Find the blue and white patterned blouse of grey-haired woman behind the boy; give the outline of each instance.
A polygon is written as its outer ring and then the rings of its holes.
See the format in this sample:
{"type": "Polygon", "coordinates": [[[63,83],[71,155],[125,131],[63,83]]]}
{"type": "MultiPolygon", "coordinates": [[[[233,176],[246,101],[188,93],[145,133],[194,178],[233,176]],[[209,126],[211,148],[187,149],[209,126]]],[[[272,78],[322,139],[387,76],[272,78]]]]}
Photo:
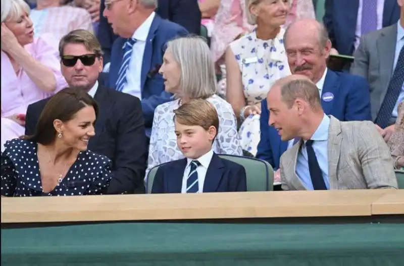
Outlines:
{"type": "MultiPolygon", "coordinates": [[[[213,143],[213,150],[218,154],[242,155],[240,140],[237,136],[236,117],[230,103],[218,95],[213,95],[207,100],[215,106],[219,116],[219,130],[213,143]]],[[[159,105],[155,110],[146,177],[151,168],[184,158],[177,147],[177,136],[174,132],[173,111],[178,107],[179,100],[174,100],[159,105]]]]}

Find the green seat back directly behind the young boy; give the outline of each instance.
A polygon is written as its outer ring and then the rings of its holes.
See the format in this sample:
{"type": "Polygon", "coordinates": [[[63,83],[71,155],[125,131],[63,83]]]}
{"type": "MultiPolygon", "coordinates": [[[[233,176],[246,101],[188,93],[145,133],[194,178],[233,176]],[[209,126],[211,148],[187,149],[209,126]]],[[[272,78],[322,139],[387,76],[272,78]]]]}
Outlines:
{"type": "MultiPolygon", "coordinates": [[[[227,159],[244,167],[247,178],[247,191],[273,190],[274,170],[268,162],[261,159],[219,154],[222,159],[227,159]]],[[[160,166],[155,166],[147,175],[146,191],[151,193],[155,175],[160,166]]]]}

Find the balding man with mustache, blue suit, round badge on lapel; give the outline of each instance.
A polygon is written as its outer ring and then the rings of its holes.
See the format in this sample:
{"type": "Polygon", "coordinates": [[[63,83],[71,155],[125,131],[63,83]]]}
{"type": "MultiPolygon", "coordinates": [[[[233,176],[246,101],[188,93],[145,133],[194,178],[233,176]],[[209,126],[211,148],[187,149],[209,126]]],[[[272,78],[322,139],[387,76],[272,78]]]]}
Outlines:
{"type": "MultiPolygon", "coordinates": [[[[368,82],[359,76],[327,69],[331,41],[322,24],[314,19],[294,22],[285,32],[284,44],[290,71],[305,75],[316,84],[326,115],[340,121],[372,120],[368,82]]],[[[268,125],[267,100],[261,104],[261,140],[256,157],[277,170],[282,153],[293,146],[294,140],[281,141],[277,130],[268,125]]],[[[276,171],[274,180],[279,179],[276,171]]]]}

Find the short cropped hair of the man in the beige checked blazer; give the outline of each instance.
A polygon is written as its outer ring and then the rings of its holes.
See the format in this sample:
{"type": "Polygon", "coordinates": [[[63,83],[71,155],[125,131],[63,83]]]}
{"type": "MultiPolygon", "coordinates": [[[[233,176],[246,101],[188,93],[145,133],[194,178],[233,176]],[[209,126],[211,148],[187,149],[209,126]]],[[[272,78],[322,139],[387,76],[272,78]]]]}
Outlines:
{"type": "Polygon", "coordinates": [[[313,110],[321,109],[320,93],[316,84],[308,79],[294,79],[281,84],[282,101],[292,108],[294,101],[299,98],[310,104],[313,110]]]}

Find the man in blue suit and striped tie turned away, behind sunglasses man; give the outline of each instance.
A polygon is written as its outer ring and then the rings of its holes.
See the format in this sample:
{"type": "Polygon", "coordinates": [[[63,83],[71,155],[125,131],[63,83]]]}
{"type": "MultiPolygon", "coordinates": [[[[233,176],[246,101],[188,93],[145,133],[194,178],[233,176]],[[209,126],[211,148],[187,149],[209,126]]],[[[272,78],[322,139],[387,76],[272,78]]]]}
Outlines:
{"type": "Polygon", "coordinates": [[[107,85],[138,97],[146,135],[151,131],[157,105],[171,99],[158,73],[167,41],[187,31],[155,13],[157,0],[111,0],[104,16],[117,38],[112,46],[107,85]]]}

